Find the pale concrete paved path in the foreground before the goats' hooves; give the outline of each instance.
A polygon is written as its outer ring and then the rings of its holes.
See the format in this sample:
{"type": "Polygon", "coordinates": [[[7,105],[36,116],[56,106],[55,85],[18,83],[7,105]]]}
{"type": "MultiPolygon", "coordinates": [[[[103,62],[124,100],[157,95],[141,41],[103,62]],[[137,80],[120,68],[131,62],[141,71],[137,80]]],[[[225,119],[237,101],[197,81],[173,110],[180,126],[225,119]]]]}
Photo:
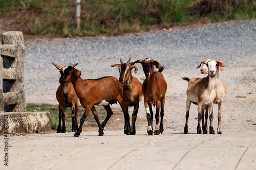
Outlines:
{"type": "MultiPolygon", "coordinates": [[[[8,169],[256,169],[256,133],[8,136],[8,169]]],[[[3,159],[4,136],[0,136],[3,159]]],[[[0,169],[7,169],[1,161],[0,169]],[[3,168],[4,167],[4,168],[3,168]]]]}

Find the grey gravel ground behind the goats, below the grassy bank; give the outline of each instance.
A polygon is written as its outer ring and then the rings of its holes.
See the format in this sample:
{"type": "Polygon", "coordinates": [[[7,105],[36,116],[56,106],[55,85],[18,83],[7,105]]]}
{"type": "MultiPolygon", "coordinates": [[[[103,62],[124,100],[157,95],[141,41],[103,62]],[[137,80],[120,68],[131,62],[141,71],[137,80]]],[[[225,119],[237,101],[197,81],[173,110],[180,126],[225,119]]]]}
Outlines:
{"type": "MultiPolygon", "coordinates": [[[[165,104],[165,128],[183,131],[187,82],[181,77],[204,77],[196,67],[207,59],[225,63],[220,78],[228,93],[223,106],[222,130],[256,131],[256,20],[224,22],[202,28],[173,29],[162,33],[140,33],[125,37],[99,39],[36,39],[26,40],[25,91],[27,103],[57,104],[55,92],[59,85],[60,66],[79,63],[83,79],[103,76],[119,77],[118,69],[110,65],[119,58],[132,61],[144,58],[157,60],[166,68],[163,75],[168,89],[165,104]],[[237,98],[237,95],[245,98],[237,98]],[[181,126],[182,125],[182,126],[181,126]],[[232,126],[233,125],[233,126],[232,126]]],[[[143,78],[140,64],[134,76],[143,78]]],[[[144,118],[143,103],[138,116],[144,118]]],[[[115,105],[115,107],[119,107],[115,105]]],[[[217,131],[217,110],[215,106],[217,131]]],[[[191,105],[189,131],[196,131],[197,107],[191,105]]]]}

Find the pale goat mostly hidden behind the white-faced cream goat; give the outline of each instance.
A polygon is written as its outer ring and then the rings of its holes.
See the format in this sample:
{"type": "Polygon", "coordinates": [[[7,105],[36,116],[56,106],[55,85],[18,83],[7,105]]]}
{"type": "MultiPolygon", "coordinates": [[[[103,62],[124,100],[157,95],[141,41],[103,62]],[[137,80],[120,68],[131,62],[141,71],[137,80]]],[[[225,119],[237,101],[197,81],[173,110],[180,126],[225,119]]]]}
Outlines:
{"type": "MultiPolygon", "coordinates": [[[[209,60],[207,60],[208,62],[209,60]]],[[[221,62],[221,61],[220,61],[221,62]]],[[[222,134],[221,130],[221,112],[222,112],[222,103],[227,94],[227,85],[219,78],[219,70],[223,71],[223,67],[217,67],[216,72],[216,98],[214,100],[214,104],[218,104],[218,134],[222,134]]],[[[208,69],[206,65],[201,67],[201,74],[208,74],[208,69]]],[[[203,115],[202,115],[203,118],[203,115]]],[[[207,133],[207,118],[208,118],[208,108],[205,107],[205,129],[207,133]]]]}

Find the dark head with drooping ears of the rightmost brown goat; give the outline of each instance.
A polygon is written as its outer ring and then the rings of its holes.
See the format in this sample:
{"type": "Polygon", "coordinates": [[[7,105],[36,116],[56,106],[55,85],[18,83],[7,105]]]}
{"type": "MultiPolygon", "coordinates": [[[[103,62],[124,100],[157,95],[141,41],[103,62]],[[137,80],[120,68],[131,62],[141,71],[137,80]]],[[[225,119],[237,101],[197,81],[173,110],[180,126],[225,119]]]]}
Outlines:
{"type": "Polygon", "coordinates": [[[150,77],[151,75],[153,75],[154,72],[154,65],[157,68],[161,68],[161,64],[158,63],[155,60],[152,60],[151,58],[145,58],[144,60],[137,60],[135,62],[131,62],[130,64],[135,64],[135,63],[141,63],[144,74],[146,77],[150,77]]]}

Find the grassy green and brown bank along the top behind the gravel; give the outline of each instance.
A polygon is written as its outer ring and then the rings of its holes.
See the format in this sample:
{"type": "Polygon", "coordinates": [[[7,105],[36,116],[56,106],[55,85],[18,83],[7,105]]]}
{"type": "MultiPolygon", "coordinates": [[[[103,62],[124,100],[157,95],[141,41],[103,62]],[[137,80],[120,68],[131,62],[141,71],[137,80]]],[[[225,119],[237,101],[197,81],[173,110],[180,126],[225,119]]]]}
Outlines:
{"type": "Polygon", "coordinates": [[[0,16],[13,19],[30,35],[94,36],[170,28],[193,21],[216,22],[256,17],[252,0],[81,0],[81,29],[74,21],[75,0],[0,0],[0,16]]]}

